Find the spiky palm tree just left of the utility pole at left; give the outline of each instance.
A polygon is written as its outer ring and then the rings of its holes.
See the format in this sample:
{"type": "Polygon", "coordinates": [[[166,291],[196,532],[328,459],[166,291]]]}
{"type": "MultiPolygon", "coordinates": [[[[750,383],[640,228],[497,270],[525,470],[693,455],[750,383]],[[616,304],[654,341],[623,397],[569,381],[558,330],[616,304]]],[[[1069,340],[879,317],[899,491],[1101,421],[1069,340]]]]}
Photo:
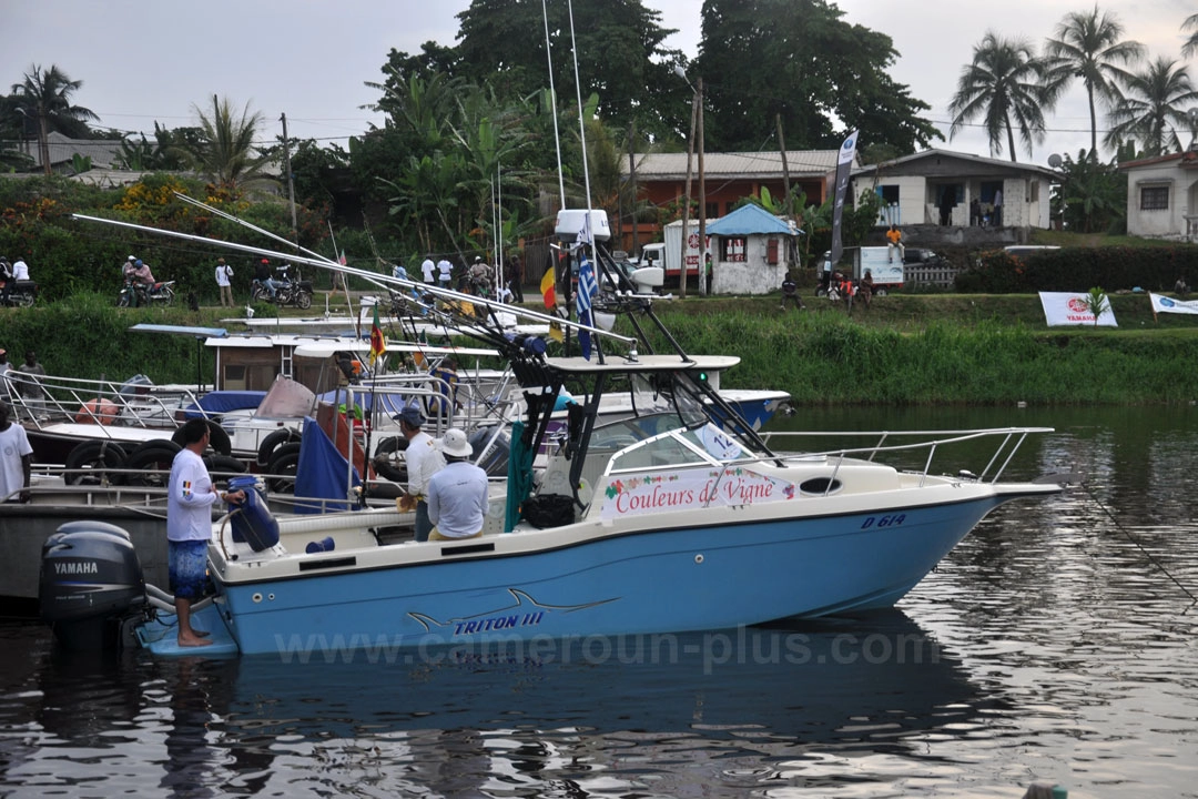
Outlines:
{"type": "Polygon", "coordinates": [[[249,103],[237,116],[229,98],[212,96],[212,109],[199,105],[192,110],[199,117],[199,140],[189,147],[192,161],[218,188],[236,196],[255,184],[273,183],[264,175],[268,157],[254,152],[254,137],[262,123],[261,111],[250,114],[249,103]]]}

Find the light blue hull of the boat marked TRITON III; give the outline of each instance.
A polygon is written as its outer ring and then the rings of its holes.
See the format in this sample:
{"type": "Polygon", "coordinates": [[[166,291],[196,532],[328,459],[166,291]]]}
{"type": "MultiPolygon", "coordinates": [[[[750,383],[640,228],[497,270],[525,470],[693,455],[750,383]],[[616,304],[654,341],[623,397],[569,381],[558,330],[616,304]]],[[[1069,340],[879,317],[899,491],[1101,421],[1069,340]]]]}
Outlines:
{"type": "Polygon", "coordinates": [[[534,553],[218,585],[217,606],[242,653],[289,660],[710,630],[885,607],[1010,498],[646,531],[534,553]],[[878,526],[870,520],[879,513],[902,521],[878,526]]]}

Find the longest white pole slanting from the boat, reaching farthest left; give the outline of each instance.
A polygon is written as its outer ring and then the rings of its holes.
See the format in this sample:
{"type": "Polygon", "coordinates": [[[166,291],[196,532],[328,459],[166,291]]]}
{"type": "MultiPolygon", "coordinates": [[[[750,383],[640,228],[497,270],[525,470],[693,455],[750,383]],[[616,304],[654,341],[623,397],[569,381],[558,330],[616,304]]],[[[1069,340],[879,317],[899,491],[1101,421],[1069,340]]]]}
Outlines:
{"type": "MultiPolygon", "coordinates": [[[[486,299],[486,298],[483,298],[483,297],[476,297],[474,295],[468,295],[468,293],[462,293],[462,292],[459,292],[459,291],[453,291],[452,289],[442,289],[440,286],[432,286],[432,285],[428,285],[428,284],[424,284],[424,283],[417,283],[415,280],[404,280],[403,278],[397,278],[397,277],[391,277],[391,276],[380,276],[377,272],[367,272],[365,270],[358,270],[358,268],[351,267],[351,266],[343,266],[340,264],[329,261],[328,259],[326,259],[323,256],[319,256],[319,258],[296,256],[296,255],[294,255],[291,253],[284,253],[284,252],[279,252],[279,250],[267,249],[265,247],[255,247],[253,244],[238,244],[237,242],[220,241],[220,240],[217,240],[217,238],[208,238],[207,236],[196,236],[194,234],[184,234],[184,232],[176,231],[176,230],[162,230],[159,228],[150,228],[147,225],[139,225],[139,224],[135,224],[135,223],[132,223],[132,222],[120,222],[117,219],[105,219],[103,217],[91,217],[91,216],[86,216],[86,214],[81,214],[81,213],[72,214],[72,218],[73,219],[79,219],[80,222],[96,222],[96,223],[99,223],[99,224],[115,225],[117,228],[128,228],[131,230],[138,230],[138,231],[141,231],[141,232],[156,234],[156,235],[159,235],[159,236],[170,236],[170,237],[174,237],[174,238],[182,238],[184,241],[200,242],[200,243],[210,244],[210,246],[213,246],[213,247],[224,247],[224,248],[234,249],[234,250],[237,250],[237,252],[241,252],[241,253],[248,253],[250,255],[260,255],[260,256],[266,256],[266,258],[277,258],[277,259],[280,259],[280,260],[289,260],[290,259],[291,261],[295,261],[296,264],[303,264],[305,266],[313,266],[313,267],[321,268],[321,270],[331,270],[331,271],[334,271],[334,272],[340,272],[340,273],[344,273],[344,274],[350,274],[350,276],[353,276],[353,277],[359,277],[359,278],[362,278],[364,280],[368,280],[368,282],[380,282],[380,283],[386,284],[387,286],[399,286],[400,289],[405,289],[405,290],[413,290],[415,289],[416,291],[423,292],[425,295],[432,295],[434,297],[437,297],[437,298],[444,299],[444,301],[453,301],[453,302],[458,302],[458,303],[467,303],[470,305],[480,305],[483,308],[486,308],[492,314],[507,313],[507,314],[512,314],[514,316],[520,316],[520,317],[524,317],[524,319],[528,319],[528,320],[532,320],[534,322],[543,323],[543,325],[544,323],[553,323],[553,325],[561,325],[563,327],[567,327],[567,328],[570,328],[570,329],[575,329],[575,331],[586,331],[586,332],[592,333],[592,334],[606,337],[606,338],[612,339],[615,341],[621,341],[621,343],[630,345],[633,347],[635,347],[637,345],[637,340],[635,338],[633,338],[633,337],[622,335],[619,333],[613,333],[611,331],[605,331],[605,329],[603,329],[600,327],[593,327],[593,326],[589,326],[589,325],[582,325],[580,322],[574,322],[574,321],[570,321],[568,319],[562,319],[561,316],[556,316],[556,315],[551,315],[551,314],[543,314],[543,313],[537,311],[537,310],[530,310],[527,308],[520,308],[520,307],[516,307],[516,305],[508,305],[508,304],[495,302],[495,301],[486,299]]],[[[292,242],[290,242],[290,241],[286,242],[286,244],[289,247],[295,247],[295,244],[292,242]]],[[[507,340],[506,337],[504,337],[504,340],[507,340]]]]}

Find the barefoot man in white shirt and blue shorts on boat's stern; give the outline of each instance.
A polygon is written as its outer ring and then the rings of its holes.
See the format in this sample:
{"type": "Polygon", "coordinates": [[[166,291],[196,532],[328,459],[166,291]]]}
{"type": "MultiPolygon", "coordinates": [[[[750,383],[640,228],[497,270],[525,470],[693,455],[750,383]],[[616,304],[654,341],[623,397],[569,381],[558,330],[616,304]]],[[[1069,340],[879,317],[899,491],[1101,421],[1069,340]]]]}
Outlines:
{"type": "Polygon", "coordinates": [[[206,631],[192,629],[192,603],[204,597],[212,538],[212,506],[223,500],[242,502],[244,491],[218,491],[204,465],[208,447],[208,423],[190,419],[182,426],[183,448],[170,465],[167,489],[167,543],[170,559],[170,589],[179,615],[179,646],[206,647],[206,631]]]}

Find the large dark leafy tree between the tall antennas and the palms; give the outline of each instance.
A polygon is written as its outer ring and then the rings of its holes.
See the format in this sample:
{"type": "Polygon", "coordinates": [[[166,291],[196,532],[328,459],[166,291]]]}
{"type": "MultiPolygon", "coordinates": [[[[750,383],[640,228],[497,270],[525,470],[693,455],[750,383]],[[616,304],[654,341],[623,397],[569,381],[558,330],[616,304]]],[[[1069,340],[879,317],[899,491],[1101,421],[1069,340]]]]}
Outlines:
{"type": "MultiPolygon", "coordinates": [[[[703,77],[708,149],[760,150],[779,117],[792,149],[837,147],[846,128],[903,153],[943,139],[924,119],[930,107],[890,79],[890,37],[849,25],[835,5],[704,0],[702,17],[690,72],[703,77]]],[[[673,102],[685,110],[682,97],[673,102]]]]}

